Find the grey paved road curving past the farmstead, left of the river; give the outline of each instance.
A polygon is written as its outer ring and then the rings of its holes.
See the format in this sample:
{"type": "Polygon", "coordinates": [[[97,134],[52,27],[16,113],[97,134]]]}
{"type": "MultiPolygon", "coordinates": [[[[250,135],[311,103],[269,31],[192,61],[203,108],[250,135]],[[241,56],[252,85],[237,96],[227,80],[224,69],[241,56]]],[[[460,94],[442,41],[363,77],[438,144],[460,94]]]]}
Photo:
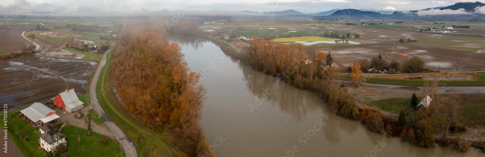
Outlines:
{"type": "Polygon", "coordinates": [[[93,105],[93,109],[96,110],[97,114],[100,116],[101,120],[103,120],[104,124],[108,126],[108,128],[113,132],[114,136],[118,141],[121,143],[121,146],[123,147],[123,150],[125,150],[125,154],[127,157],[138,157],[138,151],[136,151],[135,144],[129,137],[121,130],[116,124],[113,123],[113,120],[106,115],[104,110],[99,106],[99,102],[97,101],[97,96],[96,96],[96,85],[97,85],[97,79],[99,78],[99,74],[101,73],[101,69],[103,68],[104,64],[106,63],[106,54],[111,50],[108,49],[104,53],[101,61],[99,62],[99,65],[97,66],[97,69],[93,75],[93,79],[91,80],[91,84],[89,85],[89,96],[91,97],[91,105],[93,105]],[[121,139],[121,140],[120,140],[121,139]]]}

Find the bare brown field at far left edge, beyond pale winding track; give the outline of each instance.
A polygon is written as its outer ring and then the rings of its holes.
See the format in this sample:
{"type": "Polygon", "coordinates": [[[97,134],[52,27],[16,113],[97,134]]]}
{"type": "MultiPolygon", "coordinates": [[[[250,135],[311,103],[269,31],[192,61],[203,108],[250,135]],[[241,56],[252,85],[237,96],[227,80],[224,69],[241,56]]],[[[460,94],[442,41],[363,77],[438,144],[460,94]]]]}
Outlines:
{"type": "Polygon", "coordinates": [[[0,22],[0,55],[20,51],[28,41],[21,37],[23,31],[35,30],[38,23],[9,23],[0,22]]]}

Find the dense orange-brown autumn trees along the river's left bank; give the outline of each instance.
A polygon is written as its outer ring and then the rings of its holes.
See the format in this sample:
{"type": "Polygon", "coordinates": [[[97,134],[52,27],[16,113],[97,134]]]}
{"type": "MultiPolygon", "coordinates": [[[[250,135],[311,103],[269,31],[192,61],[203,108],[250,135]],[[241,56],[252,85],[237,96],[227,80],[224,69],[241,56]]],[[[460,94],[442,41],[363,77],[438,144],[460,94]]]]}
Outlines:
{"type": "Polygon", "coordinates": [[[187,67],[178,44],[169,44],[166,29],[156,25],[120,34],[111,76],[125,109],[156,130],[179,130],[186,141],[200,145],[192,153],[213,156],[197,125],[207,91],[199,84],[200,75],[187,67]]]}

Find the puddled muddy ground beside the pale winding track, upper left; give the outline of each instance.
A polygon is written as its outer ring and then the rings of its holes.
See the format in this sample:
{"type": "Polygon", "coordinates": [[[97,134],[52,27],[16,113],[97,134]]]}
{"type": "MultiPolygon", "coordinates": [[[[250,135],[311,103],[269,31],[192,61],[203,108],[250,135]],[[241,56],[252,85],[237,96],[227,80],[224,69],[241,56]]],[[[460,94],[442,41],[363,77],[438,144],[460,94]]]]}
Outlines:
{"type": "Polygon", "coordinates": [[[70,59],[81,59],[84,57],[81,53],[61,49],[61,47],[64,47],[63,43],[38,38],[34,38],[33,40],[42,45],[42,48],[37,52],[38,55],[70,59]]]}

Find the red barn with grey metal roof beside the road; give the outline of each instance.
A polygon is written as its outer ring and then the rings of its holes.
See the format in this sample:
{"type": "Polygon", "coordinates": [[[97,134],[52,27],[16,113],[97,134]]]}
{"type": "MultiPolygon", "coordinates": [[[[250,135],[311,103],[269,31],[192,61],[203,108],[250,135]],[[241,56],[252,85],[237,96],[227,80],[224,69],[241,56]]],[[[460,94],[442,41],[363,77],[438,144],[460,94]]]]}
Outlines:
{"type": "Polygon", "coordinates": [[[84,107],[84,103],[79,100],[74,89],[57,94],[54,98],[54,105],[71,113],[84,107]]]}

